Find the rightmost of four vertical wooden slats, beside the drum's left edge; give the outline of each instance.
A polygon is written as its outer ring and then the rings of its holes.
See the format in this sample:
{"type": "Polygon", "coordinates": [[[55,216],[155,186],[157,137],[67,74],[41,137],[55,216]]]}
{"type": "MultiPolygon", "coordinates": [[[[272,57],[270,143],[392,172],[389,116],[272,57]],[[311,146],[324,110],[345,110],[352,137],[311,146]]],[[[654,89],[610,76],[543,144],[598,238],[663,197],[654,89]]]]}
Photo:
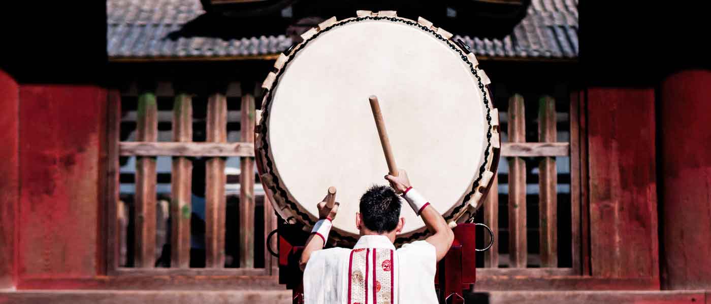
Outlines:
{"type": "MultiPolygon", "coordinates": [[[[242,96],[241,142],[255,141],[255,98],[242,96]]],[[[240,158],[240,267],[254,267],[255,169],[253,157],[240,158]]],[[[267,232],[269,233],[269,232],[267,232]]]]}

